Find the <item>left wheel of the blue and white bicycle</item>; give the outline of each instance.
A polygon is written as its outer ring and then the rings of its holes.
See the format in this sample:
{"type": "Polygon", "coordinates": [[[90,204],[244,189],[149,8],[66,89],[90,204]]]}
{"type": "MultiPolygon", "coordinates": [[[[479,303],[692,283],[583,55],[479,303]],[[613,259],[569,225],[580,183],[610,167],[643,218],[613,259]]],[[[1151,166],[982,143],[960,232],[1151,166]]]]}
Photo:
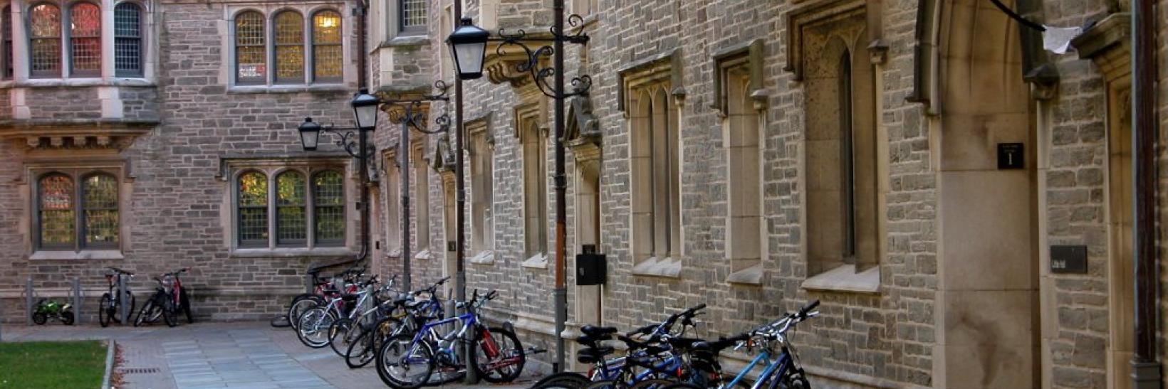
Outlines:
{"type": "Polygon", "coordinates": [[[390,338],[377,351],[377,376],[396,389],[417,389],[426,384],[434,370],[430,344],[415,344],[411,335],[390,338]]]}

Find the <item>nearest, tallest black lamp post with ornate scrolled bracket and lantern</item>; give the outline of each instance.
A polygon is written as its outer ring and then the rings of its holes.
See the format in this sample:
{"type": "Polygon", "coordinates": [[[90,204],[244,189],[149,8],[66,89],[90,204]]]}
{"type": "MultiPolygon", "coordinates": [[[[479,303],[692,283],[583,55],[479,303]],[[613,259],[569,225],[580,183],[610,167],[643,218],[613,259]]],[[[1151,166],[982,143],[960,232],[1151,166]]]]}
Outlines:
{"type": "MultiPolygon", "coordinates": [[[[459,79],[475,79],[482,77],[482,63],[485,61],[487,42],[499,42],[495,52],[500,56],[507,47],[517,47],[527,54],[527,62],[516,65],[520,72],[528,72],[533,82],[544,96],[555,100],[555,126],[556,126],[556,287],[555,311],[556,311],[556,362],[554,369],[559,372],[564,366],[564,321],[568,320],[568,288],[565,283],[566,262],[564,253],[566,248],[566,177],[564,175],[564,100],[575,96],[588,94],[592,86],[591,77],[586,75],[577,76],[572,79],[572,91],[564,89],[564,42],[576,44],[588,44],[589,36],[580,28],[573,34],[564,33],[564,0],[552,1],[552,13],[555,14],[550,36],[536,37],[527,36],[527,33],[519,30],[514,34],[499,30],[498,36],[491,36],[482,28],[474,26],[471,19],[461,19],[459,27],[446,38],[458,66],[459,79]],[[534,50],[528,44],[535,44],[534,50]],[[550,68],[541,66],[542,58],[551,57],[550,68]],[[551,78],[551,83],[548,83],[551,78]]],[[[583,24],[579,15],[568,16],[572,27],[583,24]]],[[[461,119],[459,119],[461,120],[461,119]]]]}

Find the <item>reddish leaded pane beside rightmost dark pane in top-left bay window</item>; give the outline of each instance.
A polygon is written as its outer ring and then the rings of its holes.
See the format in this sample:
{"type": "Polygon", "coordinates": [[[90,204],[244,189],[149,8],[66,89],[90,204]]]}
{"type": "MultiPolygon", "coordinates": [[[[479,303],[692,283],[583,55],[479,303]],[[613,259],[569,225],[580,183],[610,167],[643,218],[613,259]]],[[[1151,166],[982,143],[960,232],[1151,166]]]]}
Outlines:
{"type": "Polygon", "coordinates": [[[72,73],[102,73],[102,8],[92,2],[69,7],[69,59],[72,73]]]}

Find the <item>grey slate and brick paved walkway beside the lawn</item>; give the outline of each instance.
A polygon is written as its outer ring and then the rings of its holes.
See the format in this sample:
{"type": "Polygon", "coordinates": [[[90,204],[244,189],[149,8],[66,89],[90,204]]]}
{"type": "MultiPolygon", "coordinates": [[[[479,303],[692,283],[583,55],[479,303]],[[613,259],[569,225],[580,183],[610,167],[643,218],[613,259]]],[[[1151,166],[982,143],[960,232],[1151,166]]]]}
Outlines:
{"type": "MultiPolygon", "coordinates": [[[[119,369],[155,369],[123,375],[123,388],[385,388],[374,368],[350,369],[329,348],[310,348],[288,328],[267,323],[196,323],[166,326],[6,325],[4,341],[114,339],[119,369]]],[[[449,388],[526,388],[529,374],[512,386],[447,384],[449,388]]]]}

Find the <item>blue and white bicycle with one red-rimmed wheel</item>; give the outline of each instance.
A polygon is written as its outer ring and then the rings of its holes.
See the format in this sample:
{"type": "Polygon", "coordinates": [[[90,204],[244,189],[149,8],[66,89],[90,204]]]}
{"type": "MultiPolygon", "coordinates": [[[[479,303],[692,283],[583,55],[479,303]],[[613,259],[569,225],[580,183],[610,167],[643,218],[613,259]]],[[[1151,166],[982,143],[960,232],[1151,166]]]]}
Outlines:
{"type": "Polygon", "coordinates": [[[424,384],[445,383],[465,372],[460,365],[461,346],[471,341],[470,355],[464,361],[473,361],[471,368],[484,381],[491,383],[514,381],[523,370],[526,355],[515,333],[501,327],[481,324],[478,309],[499,293],[491,291],[458,304],[466,313],[454,318],[424,324],[415,334],[398,334],[384,342],[377,352],[377,376],[396,389],[416,389],[424,384]],[[456,325],[457,328],[439,333],[438,327],[456,325]],[[473,335],[473,339],[467,339],[473,335]],[[510,345],[507,345],[507,344],[510,345]],[[439,368],[438,380],[431,380],[439,368]]]}

